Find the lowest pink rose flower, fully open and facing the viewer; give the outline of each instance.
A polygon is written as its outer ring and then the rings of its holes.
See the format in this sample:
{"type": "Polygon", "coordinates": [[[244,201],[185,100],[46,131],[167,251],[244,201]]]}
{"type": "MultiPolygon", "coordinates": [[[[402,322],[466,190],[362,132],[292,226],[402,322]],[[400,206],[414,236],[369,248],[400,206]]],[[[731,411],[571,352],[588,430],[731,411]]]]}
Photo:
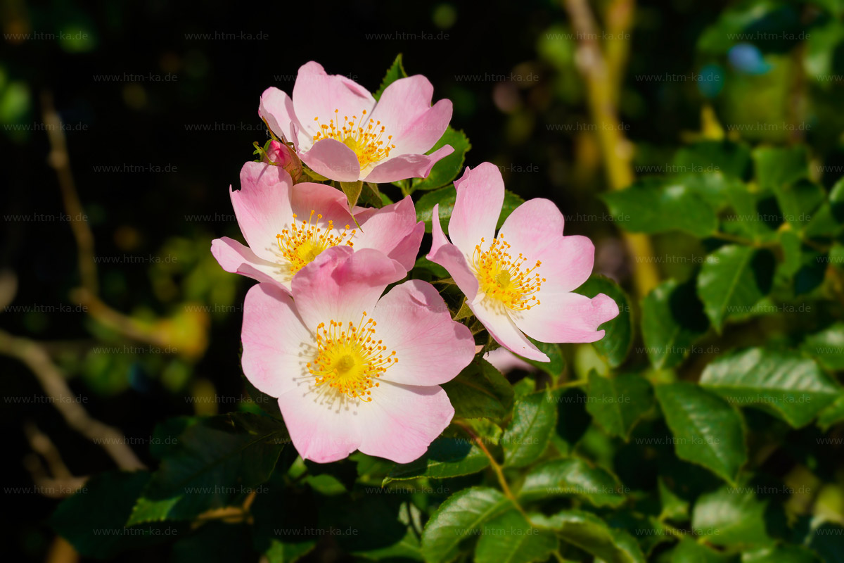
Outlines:
{"type": "Polygon", "coordinates": [[[300,456],[318,463],[360,450],[408,463],[454,409],[440,387],[472,361],[469,329],[420,280],[397,278],[381,252],[335,246],[293,279],[246,295],[243,372],[279,408],[300,456]]]}

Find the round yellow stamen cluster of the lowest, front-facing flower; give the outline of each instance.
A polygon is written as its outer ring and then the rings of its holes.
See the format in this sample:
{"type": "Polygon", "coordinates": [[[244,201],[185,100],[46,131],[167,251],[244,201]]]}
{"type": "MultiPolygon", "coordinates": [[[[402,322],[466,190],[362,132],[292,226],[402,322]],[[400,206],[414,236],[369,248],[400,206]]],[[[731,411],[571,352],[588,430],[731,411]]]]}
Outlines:
{"type": "Polygon", "coordinates": [[[358,326],[354,322],[342,324],[320,322],[317,327],[317,358],[307,365],[317,377],[317,387],[327,386],[349,398],[372,400],[370,391],[378,387],[376,380],[391,365],[398,362],[396,352],[387,354],[387,346],[376,340],[376,322],[366,318],[366,311],[358,326]]]}

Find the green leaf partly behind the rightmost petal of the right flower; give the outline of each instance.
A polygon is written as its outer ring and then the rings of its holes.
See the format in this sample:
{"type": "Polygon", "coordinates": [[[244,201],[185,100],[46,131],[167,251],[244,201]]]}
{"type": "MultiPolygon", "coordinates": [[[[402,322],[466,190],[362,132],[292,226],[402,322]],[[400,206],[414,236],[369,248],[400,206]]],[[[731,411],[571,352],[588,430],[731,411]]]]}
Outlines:
{"type": "Polygon", "coordinates": [[[601,275],[593,275],[587,279],[585,284],[576,290],[576,293],[586,295],[589,298],[603,293],[609,295],[619,306],[619,315],[614,319],[604,322],[598,329],[605,332],[603,338],[593,342],[592,346],[598,350],[611,367],[618,367],[623,364],[630,346],[633,344],[633,315],[630,311],[630,297],[612,279],[601,275]]]}

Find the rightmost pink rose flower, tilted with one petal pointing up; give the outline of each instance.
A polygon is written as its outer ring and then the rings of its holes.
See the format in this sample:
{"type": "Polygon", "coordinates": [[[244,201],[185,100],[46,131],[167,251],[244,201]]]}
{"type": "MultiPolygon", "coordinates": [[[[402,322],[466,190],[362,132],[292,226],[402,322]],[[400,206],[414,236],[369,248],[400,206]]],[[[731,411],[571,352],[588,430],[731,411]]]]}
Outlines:
{"type": "Polygon", "coordinates": [[[563,215],[554,203],[522,203],[495,225],[504,203],[504,181],[488,162],[466,169],[454,182],[457,200],[442,231],[434,207],[434,240],[428,259],[452,274],[474,316],[499,344],[529,360],[549,361],[525,337],[540,342],[595,342],[597,330],[616,317],[609,296],[571,293],[592,273],[595,248],[585,236],[563,236],[563,215]]]}

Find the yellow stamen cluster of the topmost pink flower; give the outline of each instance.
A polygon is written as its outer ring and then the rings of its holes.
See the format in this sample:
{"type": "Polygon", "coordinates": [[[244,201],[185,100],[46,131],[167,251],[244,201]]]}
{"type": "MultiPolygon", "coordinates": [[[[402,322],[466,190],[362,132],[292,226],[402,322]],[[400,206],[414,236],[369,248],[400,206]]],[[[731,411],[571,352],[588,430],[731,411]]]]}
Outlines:
{"type": "Polygon", "coordinates": [[[361,170],[386,159],[390,151],[396,148],[396,145],[390,143],[392,135],[387,135],[386,140],[383,139],[386,127],[381,125],[381,122],[372,122],[366,116],[366,110],[361,111],[360,121],[358,116],[352,116],[351,120],[349,116],[343,116],[342,123],[339,112],[339,110],[334,110],[335,117],[329,120],[327,125],[320,123],[319,117],[314,117],[319,127],[317,134],[314,135],[314,143],[324,138],[333,138],[344,143],[357,155],[361,170]]]}

